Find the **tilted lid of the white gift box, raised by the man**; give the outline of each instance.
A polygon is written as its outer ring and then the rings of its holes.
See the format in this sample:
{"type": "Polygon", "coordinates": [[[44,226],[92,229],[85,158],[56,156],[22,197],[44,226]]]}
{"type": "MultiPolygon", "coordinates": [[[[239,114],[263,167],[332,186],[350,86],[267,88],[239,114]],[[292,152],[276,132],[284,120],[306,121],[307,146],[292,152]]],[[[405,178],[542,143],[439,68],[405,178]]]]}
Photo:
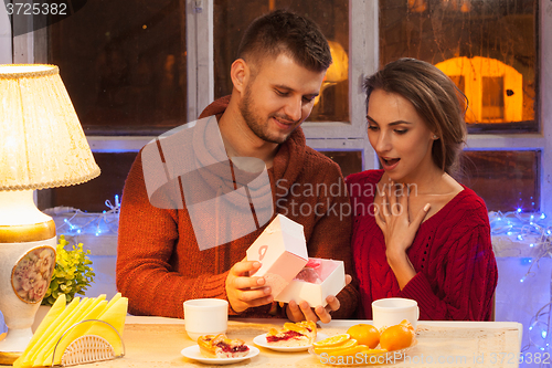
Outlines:
{"type": "Polygon", "coordinates": [[[283,214],[247,249],[247,261],[259,261],[255,276],[264,277],[272,295],[278,295],[308,262],[302,225],[283,214]]]}

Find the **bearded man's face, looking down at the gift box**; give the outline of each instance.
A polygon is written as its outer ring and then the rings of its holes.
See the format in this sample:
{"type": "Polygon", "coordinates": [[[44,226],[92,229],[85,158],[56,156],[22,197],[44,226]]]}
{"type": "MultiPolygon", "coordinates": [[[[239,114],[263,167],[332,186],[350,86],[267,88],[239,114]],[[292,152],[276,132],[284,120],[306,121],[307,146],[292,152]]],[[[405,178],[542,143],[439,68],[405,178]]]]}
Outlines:
{"type": "Polygon", "coordinates": [[[285,54],[258,63],[238,104],[250,129],[265,141],[284,143],[310,115],[325,74],[285,54]]]}

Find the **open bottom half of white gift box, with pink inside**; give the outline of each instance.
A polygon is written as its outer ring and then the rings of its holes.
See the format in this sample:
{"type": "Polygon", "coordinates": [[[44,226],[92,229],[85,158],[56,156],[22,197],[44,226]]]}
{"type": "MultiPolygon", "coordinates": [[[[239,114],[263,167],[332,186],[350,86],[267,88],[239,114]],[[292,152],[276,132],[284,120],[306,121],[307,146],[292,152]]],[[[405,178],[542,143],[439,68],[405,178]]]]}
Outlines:
{"type": "Polygon", "coordinates": [[[279,293],[275,301],[289,303],[290,301],[306,301],[311,307],[328,304],[328,295],[338,295],[346,286],[343,261],[310,259],[320,261],[320,267],[316,269],[320,283],[291,280],[291,282],[279,293]]]}

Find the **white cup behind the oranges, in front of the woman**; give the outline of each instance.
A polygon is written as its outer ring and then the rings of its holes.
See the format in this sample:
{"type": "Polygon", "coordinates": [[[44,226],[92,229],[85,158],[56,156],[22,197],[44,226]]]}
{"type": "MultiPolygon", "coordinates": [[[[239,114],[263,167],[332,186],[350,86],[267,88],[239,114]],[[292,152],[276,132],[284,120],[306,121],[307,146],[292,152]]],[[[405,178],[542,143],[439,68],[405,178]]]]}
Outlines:
{"type": "Polygon", "coordinates": [[[372,318],[375,328],[399,325],[403,319],[416,328],[420,318],[417,302],[403,297],[388,297],[372,302],[372,318]]]}

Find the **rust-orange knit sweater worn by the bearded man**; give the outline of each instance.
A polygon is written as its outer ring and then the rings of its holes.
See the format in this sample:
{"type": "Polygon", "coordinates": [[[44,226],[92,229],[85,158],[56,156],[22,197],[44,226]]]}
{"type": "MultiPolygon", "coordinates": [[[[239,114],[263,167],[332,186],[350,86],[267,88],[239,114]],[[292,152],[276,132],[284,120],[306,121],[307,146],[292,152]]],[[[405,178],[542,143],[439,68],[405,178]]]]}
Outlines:
{"type": "MultiPolygon", "coordinates": [[[[229,98],[214,102],[202,117],[222,114],[227,102],[229,98]]],[[[277,213],[304,225],[309,256],[342,260],[346,272],[352,274],[351,217],[339,211],[340,207],[349,206],[349,198],[339,167],[307,147],[302,130],[297,128],[280,145],[268,175],[274,208],[277,213]],[[308,191],[317,183],[327,187],[335,183],[339,190],[333,190],[336,196],[308,191]],[[302,207],[302,214],[297,203],[307,203],[302,207]],[[317,204],[317,211],[308,211],[317,204]],[[337,211],[331,211],[331,208],[337,208],[337,211]]],[[[231,218],[226,220],[232,221],[231,218]]],[[[240,223],[234,225],[240,227],[240,223]]],[[[229,270],[245,257],[245,251],[264,228],[230,243],[200,251],[185,208],[163,210],[150,204],[141,154],[138,155],[123,191],[117,256],[117,287],[128,297],[129,312],[183,317],[182,303],[187,299],[227,299],[225,280],[229,270]]],[[[348,285],[338,298],[341,308],[332,314],[333,317],[350,317],[357,306],[357,290],[348,285]]],[[[238,315],[269,317],[269,309],[270,305],[266,305],[238,315]]],[[[236,315],[233,311],[230,314],[236,315]]]]}

